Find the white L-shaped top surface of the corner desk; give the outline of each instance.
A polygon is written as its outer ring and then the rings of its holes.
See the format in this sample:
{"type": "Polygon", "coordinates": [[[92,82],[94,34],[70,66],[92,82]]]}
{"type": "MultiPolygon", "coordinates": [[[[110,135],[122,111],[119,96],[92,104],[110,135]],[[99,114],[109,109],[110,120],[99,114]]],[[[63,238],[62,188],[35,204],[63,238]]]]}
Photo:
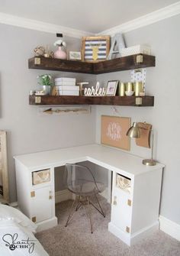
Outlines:
{"type": "Polygon", "coordinates": [[[14,159],[27,167],[28,170],[59,167],[66,163],[71,164],[84,160],[89,160],[108,170],[117,172],[121,170],[124,172],[124,175],[127,173],[130,175],[138,175],[151,170],[159,170],[164,167],[163,164],[156,164],[156,166],[153,167],[144,166],[142,164],[143,158],[100,144],[87,144],[52,151],[22,154],[15,156],[14,159]]]}

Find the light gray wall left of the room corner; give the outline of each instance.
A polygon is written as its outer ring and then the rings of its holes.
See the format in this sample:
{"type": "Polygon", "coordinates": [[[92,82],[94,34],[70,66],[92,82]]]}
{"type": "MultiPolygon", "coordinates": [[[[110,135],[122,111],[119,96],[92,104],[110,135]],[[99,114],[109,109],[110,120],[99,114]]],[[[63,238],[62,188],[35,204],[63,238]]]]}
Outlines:
{"type": "MultiPolygon", "coordinates": [[[[13,156],[95,142],[95,108],[90,115],[40,116],[38,107],[28,104],[31,89],[37,89],[37,76],[95,76],[76,73],[28,70],[27,60],[37,45],[53,45],[56,35],[0,24],[0,129],[8,131],[8,171],[11,202],[16,201],[13,156]]],[[[79,40],[65,38],[68,48],[79,50],[79,40]]]]}

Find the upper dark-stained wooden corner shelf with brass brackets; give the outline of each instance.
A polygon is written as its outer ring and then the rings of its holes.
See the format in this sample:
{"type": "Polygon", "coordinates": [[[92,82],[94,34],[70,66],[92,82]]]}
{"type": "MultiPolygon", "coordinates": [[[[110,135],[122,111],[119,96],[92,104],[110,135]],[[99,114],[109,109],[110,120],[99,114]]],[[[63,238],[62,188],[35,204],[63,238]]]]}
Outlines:
{"type": "Polygon", "coordinates": [[[155,66],[155,62],[154,56],[145,54],[135,54],[113,60],[104,60],[97,63],[88,63],[79,60],[59,60],[55,58],[33,57],[28,60],[28,66],[29,69],[37,70],[101,74],[155,66]]]}

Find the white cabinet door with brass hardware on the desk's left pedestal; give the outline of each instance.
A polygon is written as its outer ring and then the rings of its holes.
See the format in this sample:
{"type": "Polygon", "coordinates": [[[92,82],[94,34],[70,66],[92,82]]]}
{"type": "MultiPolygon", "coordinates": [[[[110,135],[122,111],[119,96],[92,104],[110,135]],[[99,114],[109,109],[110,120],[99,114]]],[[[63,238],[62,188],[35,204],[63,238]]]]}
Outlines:
{"type": "Polygon", "coordinates": [[[51,186],[44,186],[34,190],[34,196],[31,197],[31,219],[34,222],[53,217],[53,200],[51,186]]]}

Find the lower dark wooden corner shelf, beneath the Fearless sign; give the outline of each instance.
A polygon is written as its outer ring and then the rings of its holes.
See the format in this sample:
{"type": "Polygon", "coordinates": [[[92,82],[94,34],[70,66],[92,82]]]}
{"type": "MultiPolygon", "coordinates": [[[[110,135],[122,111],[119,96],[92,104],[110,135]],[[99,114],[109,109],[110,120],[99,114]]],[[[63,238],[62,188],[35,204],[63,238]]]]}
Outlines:
{"type": "Polygon", "coordinates": [[[154,96],[29,96],[30,105],[153,106],[154,96]]]}

